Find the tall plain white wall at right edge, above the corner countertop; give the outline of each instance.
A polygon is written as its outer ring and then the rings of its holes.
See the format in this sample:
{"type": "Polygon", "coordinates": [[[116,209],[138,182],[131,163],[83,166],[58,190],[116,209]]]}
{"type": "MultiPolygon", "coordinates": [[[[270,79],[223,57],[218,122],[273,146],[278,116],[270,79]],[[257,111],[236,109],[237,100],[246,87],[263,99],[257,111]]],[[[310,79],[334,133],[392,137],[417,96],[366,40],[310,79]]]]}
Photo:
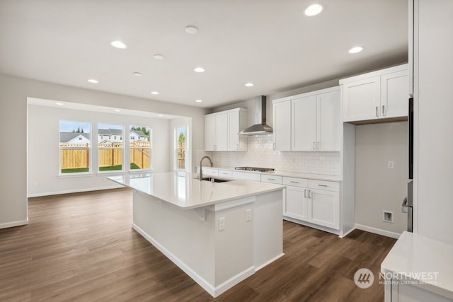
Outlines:
{"type": "Polygon", "coordinates": [[[414,6],[414,231],[453,244],[453,1],[414,6]]]}

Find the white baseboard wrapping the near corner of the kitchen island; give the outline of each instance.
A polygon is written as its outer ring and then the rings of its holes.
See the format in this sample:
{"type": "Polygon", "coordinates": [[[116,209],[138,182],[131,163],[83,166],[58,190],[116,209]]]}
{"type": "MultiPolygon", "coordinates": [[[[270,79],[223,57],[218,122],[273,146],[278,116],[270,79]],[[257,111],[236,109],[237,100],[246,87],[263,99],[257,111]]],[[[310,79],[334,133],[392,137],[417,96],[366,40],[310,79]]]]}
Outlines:
{"type": "Polygon", "coordinates": [[[182,262],[178,257],[173,255],[172,252],[164,248],[163,245],[158,243],[154,238],[149,236],[145,231],[142,230],[139,226],[137,226],[135,223],[132,223],[132,228],[137,231],[140,235],[142,235],[146,240],[149,241],[152,245],[154,245],[155,248],[157,248],[162,254],[166,255],[171,262],[173,262],[175,265],[177,265],[180,269],[185,272],[185,274],[188,274],[190,278],[192,278],[195,282],[197,282],[198,285],[200,285],[205,291],[207,291],[208,294],[213,296],[214,298],[219,296],[220,294],[224,293],[228,289],[231,289],[231,287],[235,286],[239,282],[243,281],[244,279],[250,277],[252,274],[255,273],[255,267],[248,267],[248,269],[244,270],[243,272],[240,272],[239,274],[236,274],[236,276],[231,277],[230,279],[224,281],[222,284],[219,284],[219,286],[215,286],[213,284],[210,284],[207,282],[205,279],[200,277],[196,272],[194,272],[190,267],[185,265],[184,262],[182,262]]]}

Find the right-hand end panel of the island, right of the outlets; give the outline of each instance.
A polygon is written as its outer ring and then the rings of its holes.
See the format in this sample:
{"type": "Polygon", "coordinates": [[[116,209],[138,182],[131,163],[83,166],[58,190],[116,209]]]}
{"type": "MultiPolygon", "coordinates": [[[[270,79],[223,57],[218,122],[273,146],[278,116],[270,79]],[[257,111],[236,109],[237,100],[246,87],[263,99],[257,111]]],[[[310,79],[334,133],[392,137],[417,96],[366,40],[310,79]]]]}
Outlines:
{"type": "Polygon", "coordinates": [[[283,253],[283,190],[256,195],[253,212],[256,270],[285,255],[283,253]]]}

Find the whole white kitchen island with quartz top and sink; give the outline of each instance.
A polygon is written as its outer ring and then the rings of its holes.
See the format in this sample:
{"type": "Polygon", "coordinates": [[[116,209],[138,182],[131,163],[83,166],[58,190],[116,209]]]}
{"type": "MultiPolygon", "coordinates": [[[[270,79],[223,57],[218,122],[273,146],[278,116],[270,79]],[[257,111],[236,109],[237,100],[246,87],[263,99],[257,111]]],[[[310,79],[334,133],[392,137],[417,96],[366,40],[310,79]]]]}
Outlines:
{"type": "Polygon", "coordinates": [[[134,190],[132,228],[214,297],[284,255],[285,186],[181,172],[108,179],[134,190]]]}

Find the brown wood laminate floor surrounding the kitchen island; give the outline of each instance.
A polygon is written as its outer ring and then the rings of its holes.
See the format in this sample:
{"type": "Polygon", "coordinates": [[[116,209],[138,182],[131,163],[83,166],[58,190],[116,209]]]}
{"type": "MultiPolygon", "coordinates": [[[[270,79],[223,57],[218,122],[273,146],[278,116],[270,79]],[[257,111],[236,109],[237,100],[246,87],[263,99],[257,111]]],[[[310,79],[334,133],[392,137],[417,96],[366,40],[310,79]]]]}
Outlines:
{"type": "Polygon", "coordinates": [[[395,241],[284,222],[285,256],[212,298],[132,230],[127,189],[30,198],[28,226],[0,230],[0,301],[383,301],[395,241]],[[369,289],[357,269],[374,272],[369,289]]]}

